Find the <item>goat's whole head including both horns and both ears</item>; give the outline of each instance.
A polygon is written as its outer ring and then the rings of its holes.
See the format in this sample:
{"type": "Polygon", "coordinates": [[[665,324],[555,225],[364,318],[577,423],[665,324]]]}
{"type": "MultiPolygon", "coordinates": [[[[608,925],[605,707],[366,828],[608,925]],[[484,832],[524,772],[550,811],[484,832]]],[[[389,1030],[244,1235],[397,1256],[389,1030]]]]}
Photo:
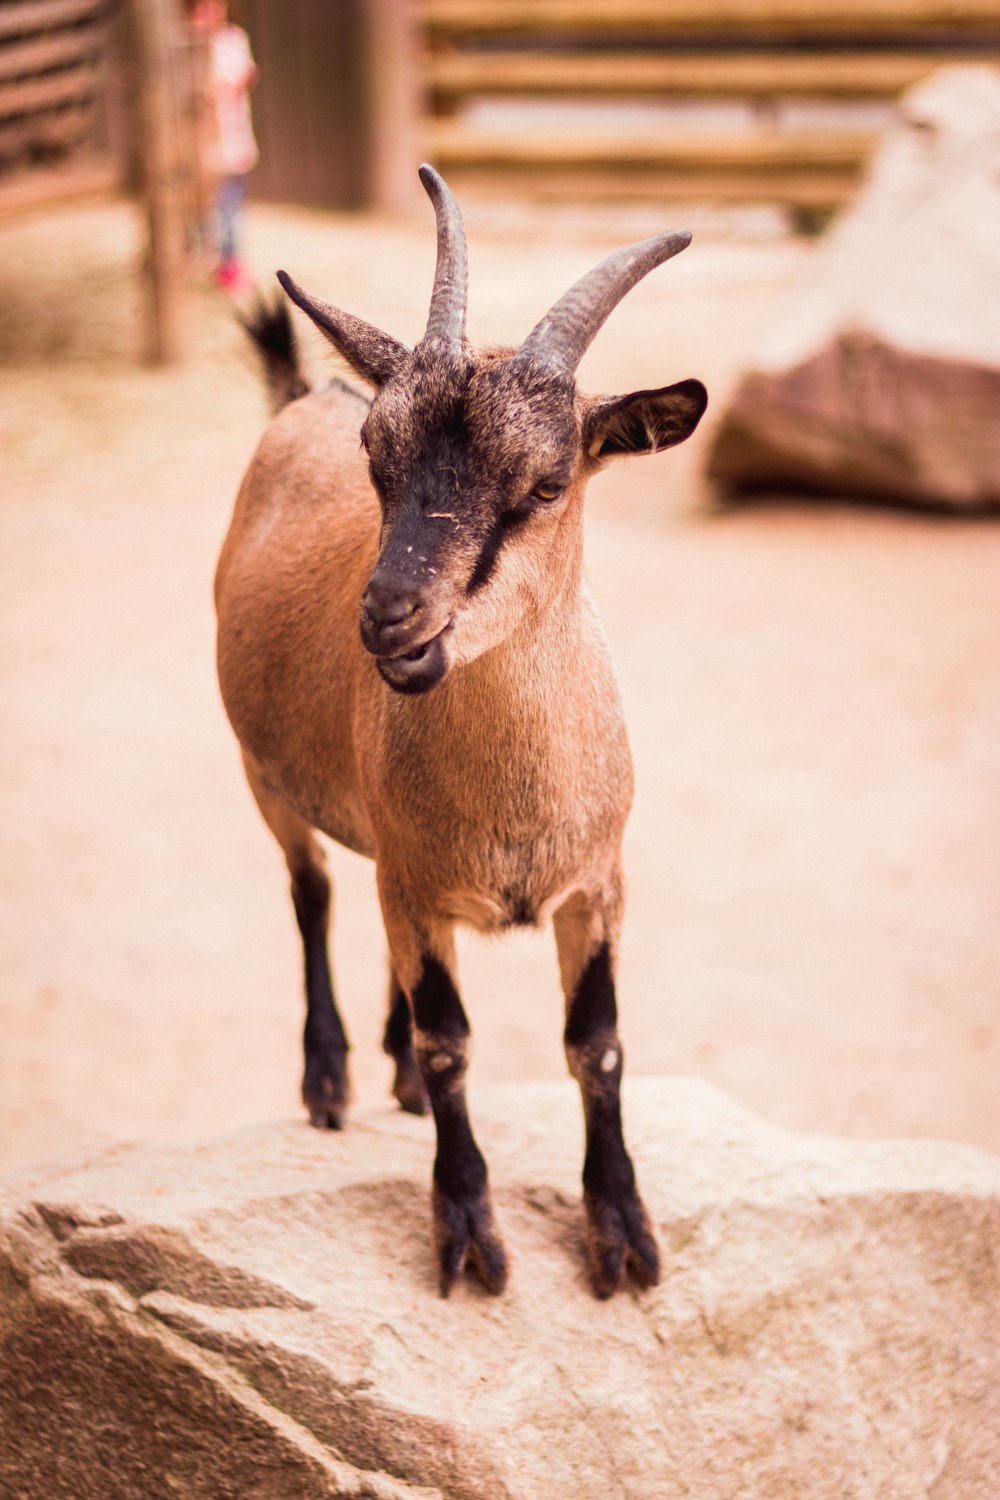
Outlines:
{"type": "Polygon", "coordinates": [[[378,562],[361,597],[361,639],[390,687],[421,693],[541,618],[576,582],[591,474],[616,454],[687,438],[706,405],[694,380],[630,396],[586,396],[576,368],[616,303],[682,250],[684,230],[610,255],[517,350],[465,339],[462,214],[430,166],[438,220],[427,330],[414,350],[310,297],[288,296],[375,387],[361,428],[382,508],[378,562]]]}

